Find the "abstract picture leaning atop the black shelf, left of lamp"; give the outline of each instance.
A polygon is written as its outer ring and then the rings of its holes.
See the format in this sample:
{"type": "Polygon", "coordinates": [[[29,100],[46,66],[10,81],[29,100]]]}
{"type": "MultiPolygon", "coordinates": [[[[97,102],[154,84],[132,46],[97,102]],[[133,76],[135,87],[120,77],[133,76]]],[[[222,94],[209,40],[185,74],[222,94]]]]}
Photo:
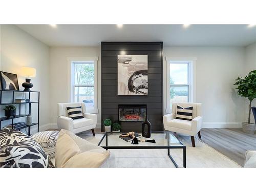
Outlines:
{"type": "Polygon", "coordinates": [[[16,74],[1,71],[0,79],[2,90],[19,90],[16,74]]]}

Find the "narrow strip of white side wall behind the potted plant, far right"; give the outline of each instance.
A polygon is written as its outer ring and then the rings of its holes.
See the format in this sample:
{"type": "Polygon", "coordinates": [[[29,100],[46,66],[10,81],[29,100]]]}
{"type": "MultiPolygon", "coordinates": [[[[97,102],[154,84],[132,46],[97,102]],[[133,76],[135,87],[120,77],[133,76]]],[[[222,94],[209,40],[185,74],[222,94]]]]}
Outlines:
{"type": "MultiPolygon", "coordinates": [[[[250,71],[256,70],[256,42],[245,48],[245,74],[247,75],[250,71]]],[[[251,106],[256,106],[256,99],[251,103],[251,106]]],[[[249,101],[246,99],[245,114],[246,120],[248,119],[249,101]]],[[[255,123],[253,114],[251,113],[251,123],[255,123]]]]}

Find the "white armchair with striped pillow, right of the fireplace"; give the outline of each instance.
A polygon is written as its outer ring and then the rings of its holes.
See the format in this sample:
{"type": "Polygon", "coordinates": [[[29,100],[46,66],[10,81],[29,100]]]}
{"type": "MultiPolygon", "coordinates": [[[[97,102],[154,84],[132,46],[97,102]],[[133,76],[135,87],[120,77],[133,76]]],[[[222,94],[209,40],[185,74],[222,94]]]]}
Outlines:
{"type": "Polygon", "coordinates": [[[190,135],[193,147],[195,147],[195,138],[201,138],[200,130],[202,128],[201,103],[173,103],[172,113],[163,116],[163,125],[166,131],[190,135]],[[176,119],[177,104],[183,108],[193,106],[192,121],[176,119]]]}

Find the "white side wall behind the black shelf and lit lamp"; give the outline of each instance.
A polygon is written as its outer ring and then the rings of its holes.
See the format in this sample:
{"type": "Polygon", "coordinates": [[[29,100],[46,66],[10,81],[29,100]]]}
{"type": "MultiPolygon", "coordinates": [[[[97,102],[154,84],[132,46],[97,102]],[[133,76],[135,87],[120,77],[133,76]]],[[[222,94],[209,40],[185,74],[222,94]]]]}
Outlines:
{"type": "MultiPolygon", "coordinates": [[[[40,119],[42,129],[49,123],[49,47],[15,25],[1,26],[1,71],[18,75],[19,89],[25,77],[20,75],[23,66],[36,68],[36,77],[31,79],[32,90],[40,91],[40,119]]],[[[35,108],[32,108],[35,109],[35,108]]],[[[35,109],[32,118],[37,120],[35,109]],[[34,115],[33,115],[34,114],[34,115]]],[[[32,133],[37,130],[33,129],[32,133]]]]}

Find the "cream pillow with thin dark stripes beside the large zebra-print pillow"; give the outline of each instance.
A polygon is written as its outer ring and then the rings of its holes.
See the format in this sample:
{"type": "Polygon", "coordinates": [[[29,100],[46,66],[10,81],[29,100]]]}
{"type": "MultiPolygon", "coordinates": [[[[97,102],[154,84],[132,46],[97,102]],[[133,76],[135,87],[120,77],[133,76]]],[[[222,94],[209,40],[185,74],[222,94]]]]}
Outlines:
{"type": "Polygon", "coordinates": [[[55,158],[55,147],[59,131],[44,131],[31,136],[45,150],[50,159],[55,158]]]}

